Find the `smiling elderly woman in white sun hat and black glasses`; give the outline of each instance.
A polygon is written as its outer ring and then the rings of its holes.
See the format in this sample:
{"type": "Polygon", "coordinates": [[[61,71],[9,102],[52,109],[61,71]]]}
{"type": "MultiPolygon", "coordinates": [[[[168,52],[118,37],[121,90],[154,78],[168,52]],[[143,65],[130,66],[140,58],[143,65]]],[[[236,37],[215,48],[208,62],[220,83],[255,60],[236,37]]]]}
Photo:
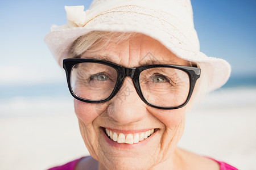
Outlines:
{"type": "Polygon", "coordinates": [[[91,156],[51,169],[236,169],[177,148],[185,113],[230,66],[199,50],[189,0],[65,7],[46,43],[63,65],[91,156]]]}

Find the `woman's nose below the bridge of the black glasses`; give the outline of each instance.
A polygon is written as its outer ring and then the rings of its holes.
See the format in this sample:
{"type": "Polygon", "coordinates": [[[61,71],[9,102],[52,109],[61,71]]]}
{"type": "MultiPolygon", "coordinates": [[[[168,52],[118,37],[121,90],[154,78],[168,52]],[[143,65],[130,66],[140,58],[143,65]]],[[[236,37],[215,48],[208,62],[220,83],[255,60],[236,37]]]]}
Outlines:
{"type": "Polygon", "coordinates": [[[120,124],[129,124],[142,120],[146,114],[146,104],[138,96],[131,78],[126,77],[109,104],[108,115],[120,124]]]}

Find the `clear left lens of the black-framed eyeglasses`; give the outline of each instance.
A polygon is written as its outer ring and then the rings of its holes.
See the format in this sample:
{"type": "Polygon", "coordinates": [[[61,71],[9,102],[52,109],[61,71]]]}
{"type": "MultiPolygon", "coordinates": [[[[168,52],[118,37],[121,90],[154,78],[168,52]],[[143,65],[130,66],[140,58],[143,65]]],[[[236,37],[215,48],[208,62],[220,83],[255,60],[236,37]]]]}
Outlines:
{"type": "Polygon", "coordinates": [[[114,90],[117,71],[101,63],[79,63],[71,73],[73,92],[84,99],[104,100],[114,90]]]}

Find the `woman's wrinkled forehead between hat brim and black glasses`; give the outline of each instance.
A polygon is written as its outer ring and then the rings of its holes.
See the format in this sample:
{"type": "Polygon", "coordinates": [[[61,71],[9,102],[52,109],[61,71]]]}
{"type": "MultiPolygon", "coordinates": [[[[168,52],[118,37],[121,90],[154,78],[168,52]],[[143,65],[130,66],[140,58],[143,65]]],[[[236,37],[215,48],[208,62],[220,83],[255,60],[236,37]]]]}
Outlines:
{"type": "Polygon", "coordinates": [[[159,41],[142,34],[120,42],[102,40],[98,46],[102,44],[106,44],[103,49],[97,50],[95,46],[96,50],[86,51],[81,58],[102,59],[125,67],[156,63],[188,65],[188,61],[176,57],[159,41]]]}

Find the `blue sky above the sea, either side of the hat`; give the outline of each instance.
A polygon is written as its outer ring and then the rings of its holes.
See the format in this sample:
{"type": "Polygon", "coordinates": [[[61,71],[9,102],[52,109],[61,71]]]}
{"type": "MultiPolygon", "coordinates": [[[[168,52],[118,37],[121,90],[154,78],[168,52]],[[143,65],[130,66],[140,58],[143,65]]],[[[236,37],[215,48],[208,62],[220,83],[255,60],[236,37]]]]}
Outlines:
{"type": "MultiPolygon", "coordinates": [[[[64,6],[90,1],[5,1],[0,5],[0,82],[64,82],[44,36],[51,24],[67,23],[64,6]]],[[[201,51],[226,59],[232,76],[256,75],[256,1],[192,0],[201,51]]]]}

